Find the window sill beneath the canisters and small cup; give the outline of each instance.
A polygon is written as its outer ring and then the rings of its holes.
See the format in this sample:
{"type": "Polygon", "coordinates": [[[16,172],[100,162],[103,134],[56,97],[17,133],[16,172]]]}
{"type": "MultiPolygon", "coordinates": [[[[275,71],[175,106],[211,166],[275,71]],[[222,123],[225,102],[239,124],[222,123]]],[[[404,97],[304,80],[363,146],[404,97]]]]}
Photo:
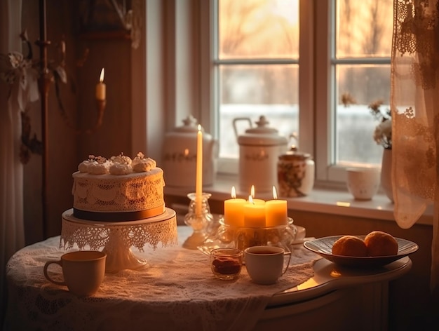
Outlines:
{"type": "MultiPolygon", "coordinates": [[[[224,201],[231,197],[231,187],[237,187],[238,180],[234,175],[217,175],[215,184],[204,187],[203,191],[212,194],[212,200],[224,201]]],[[[165,187],[165,193],[174,196],[187,196],[190,193],[187,187],[165,187]]],[[[194,189],[192,190],[194,191],[194,189]]],[[[246,198],[245,196],[241,196],[246,198]]],[[[271,194],[256,194],[256,198],[269,200],[271,194]]],[[[363,217],[369,219],[389,220],[394,222],[393,208],[389,198],[384,194],[377,194],[370,201],[356,201],[346,189],[327,189],[314,187],[309,196],[301,198],[286,198],[288,214],[294,219],[295,210],[307,212],[321,212],[331,215],[363,217]]],[[[420,217],[417,224],[433,224],[433,208],[428,208],[420,217]]]]}

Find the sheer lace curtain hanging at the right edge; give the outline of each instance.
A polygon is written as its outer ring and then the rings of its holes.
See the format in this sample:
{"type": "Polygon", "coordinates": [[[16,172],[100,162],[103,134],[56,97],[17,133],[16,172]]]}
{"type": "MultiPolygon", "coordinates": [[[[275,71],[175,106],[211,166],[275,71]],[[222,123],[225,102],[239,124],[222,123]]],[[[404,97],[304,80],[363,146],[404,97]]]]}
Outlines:
{"type": "Polygon", "coordinates": [[[439,283],[439,1],[394,0],[391,64],[396,222],[434,203],[431,290],[439,283]]]}

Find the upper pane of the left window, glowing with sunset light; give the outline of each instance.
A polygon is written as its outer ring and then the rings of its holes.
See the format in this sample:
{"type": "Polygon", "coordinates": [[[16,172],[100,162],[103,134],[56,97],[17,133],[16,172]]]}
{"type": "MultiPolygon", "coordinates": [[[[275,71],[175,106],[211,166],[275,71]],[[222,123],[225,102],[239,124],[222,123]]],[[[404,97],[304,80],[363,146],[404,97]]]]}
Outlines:
{"type": "Polygon", "coordinates": [[[298,0],[219,0],[219,59],[297,58],[298,0]]]}

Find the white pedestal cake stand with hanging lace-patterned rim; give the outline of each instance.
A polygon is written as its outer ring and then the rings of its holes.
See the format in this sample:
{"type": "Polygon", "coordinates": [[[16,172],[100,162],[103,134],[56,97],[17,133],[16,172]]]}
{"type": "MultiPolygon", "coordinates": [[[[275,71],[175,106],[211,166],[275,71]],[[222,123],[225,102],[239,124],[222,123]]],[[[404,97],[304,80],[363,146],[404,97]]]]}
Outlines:
{"type": "Polygon", "coordinates": [[[62,213],[60,248],[69,250],[76,244],[79,250],[89,248],[107,253],[105,271],[115,273],[123,269],[138,269],[147,260],[133,254],[131,247],[144,251],[149,245],[154,250],[177,245],[175,210],[165,208],[163,214],[129,222],[100,222],[74,217],[73,209],[62,213]]]}

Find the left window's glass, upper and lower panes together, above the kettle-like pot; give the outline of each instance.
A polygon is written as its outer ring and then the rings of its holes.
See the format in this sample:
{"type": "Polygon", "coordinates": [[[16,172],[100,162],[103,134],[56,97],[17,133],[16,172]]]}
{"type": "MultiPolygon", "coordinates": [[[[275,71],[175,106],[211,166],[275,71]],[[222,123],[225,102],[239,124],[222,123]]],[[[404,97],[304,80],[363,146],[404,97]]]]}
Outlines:
{"type": "Polygon", "coordinates": [[[262,115],[286,137],[299,129],[298,0],[219,0],[217,15],[219,155],[237,158],[233,123],[238,135],[262,115]]]}

